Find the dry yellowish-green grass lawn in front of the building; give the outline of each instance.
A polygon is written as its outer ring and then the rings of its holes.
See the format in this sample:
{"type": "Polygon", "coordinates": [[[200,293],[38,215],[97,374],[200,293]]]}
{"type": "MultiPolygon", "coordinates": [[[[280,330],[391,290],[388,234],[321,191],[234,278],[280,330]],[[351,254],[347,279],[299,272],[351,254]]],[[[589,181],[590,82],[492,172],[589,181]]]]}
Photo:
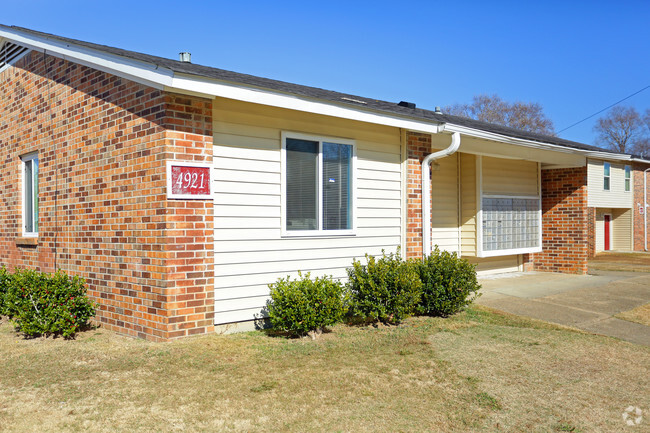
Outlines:
{"type": "Polygon", "coordinates": [[[316,341],[0,325],[0,431],[650,431],[650,348],[474,306],[316,341]],[[627,427],[639,406],[645,420],[627,427]]]}

